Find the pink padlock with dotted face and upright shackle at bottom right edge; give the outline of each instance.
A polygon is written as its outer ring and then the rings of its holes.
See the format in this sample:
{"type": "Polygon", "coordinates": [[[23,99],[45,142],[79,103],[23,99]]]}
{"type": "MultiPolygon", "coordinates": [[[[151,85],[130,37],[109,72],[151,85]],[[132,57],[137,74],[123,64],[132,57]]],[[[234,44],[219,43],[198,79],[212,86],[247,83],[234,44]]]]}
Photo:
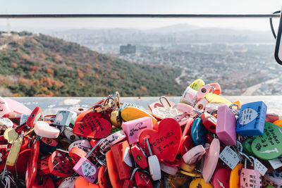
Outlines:
{"type": "Polygon", "coordinates": [[[247,168],[247,160],[254,165],[255,161],[251,161],[250,158],[245,159],[245,168],[240,170],[240,187],[262,187],[262,177],[258,170],[252,170],[247,168]]]}

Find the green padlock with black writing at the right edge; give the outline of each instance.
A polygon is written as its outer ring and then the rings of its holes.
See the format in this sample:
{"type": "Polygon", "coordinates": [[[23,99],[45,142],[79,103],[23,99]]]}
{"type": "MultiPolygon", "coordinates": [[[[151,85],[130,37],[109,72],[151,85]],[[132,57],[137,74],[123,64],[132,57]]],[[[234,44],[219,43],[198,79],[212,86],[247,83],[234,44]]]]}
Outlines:
{"type": "Polygon", "coordinates": [[[252,152],[258,158],[271,160],[282,154],[282,127],[266,122],[264,134],[255,137],[252,152]]]}

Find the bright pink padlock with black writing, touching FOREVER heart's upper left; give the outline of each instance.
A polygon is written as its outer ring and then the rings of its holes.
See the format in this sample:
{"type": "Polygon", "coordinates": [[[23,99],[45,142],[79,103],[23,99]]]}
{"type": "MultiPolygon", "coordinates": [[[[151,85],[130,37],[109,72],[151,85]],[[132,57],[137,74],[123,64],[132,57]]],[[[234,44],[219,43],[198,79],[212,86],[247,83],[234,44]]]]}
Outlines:
{"type": "Polygon", "coordinates": [[[130,145],[138,142],[140,133],[145,129],[153,129],[152,118],[143,117],[123,122],[123,132],[128,138],[128,144],[130,145]]]}

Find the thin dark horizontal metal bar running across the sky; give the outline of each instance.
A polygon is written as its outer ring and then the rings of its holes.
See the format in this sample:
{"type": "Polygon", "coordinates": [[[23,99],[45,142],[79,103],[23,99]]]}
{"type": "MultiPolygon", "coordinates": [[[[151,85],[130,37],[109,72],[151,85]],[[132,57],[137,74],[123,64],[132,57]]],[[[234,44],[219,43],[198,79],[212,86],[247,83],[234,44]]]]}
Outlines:
{"type": "Polygon", "coordinates": [[[0,18],[279,18],[280,14],[0,14],[0,18]]]}

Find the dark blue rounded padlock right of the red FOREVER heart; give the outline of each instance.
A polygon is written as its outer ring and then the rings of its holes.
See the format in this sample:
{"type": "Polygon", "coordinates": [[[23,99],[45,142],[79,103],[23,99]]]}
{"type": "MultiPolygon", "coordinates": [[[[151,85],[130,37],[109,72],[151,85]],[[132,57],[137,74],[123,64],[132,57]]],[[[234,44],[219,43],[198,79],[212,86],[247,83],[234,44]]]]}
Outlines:
{"type": "Polygon", "coordinates": [[[206,133],[207,129],[202,124],[201,118],[196,118],[192,124],[192,140],[196,145],[204,145],[206,143],[206,133]]]}

